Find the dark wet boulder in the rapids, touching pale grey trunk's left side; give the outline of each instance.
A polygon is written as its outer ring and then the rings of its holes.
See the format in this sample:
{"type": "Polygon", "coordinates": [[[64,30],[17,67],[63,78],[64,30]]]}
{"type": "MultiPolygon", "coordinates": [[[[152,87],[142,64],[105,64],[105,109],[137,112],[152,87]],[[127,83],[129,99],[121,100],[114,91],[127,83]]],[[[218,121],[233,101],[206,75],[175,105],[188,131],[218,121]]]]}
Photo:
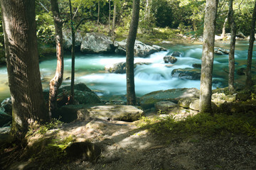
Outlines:
{"type": "Polygon", "coordinates": [[[201,70],[200,69],[174,69],[171,72],[172,77],[177,77],[180,79],[190,79],[190,80],[200,80],[201,79],[201,70]]]}

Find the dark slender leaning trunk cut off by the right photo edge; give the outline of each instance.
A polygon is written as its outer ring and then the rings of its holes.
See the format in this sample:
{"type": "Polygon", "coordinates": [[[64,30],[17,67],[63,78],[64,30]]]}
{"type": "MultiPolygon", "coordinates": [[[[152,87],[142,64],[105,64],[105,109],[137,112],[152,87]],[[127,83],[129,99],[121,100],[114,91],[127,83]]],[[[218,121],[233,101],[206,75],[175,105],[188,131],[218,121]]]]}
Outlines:
{"type": "Polygon", "coordinates": [[[256,21],[256,1],[255,1],[255,7],[253,9],[253,14],[252,14],[252,23],[251,23],[251,30],[250,30],[248,57],[247,57],[247,68],[245,72],[246,74],[245,86],[247,88],[252,86],[252,50],[253,50],[253,43],[255,41],[255,21],[256,21]]]}

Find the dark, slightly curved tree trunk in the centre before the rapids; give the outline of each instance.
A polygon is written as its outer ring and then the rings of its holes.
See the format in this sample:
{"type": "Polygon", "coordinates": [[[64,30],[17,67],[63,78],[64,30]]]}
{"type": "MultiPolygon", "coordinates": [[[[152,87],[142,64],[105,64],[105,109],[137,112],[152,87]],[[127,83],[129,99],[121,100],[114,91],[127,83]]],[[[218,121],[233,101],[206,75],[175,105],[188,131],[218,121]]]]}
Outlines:
{"type": "Polygon", "coordinates": [[[136,105],[136,95],[134,86],[134,43],[136,40],[137,29],[139,23],[139,0],[133,0],[132,21],[129,28],[127,38],[127,105],[136,105]]]}

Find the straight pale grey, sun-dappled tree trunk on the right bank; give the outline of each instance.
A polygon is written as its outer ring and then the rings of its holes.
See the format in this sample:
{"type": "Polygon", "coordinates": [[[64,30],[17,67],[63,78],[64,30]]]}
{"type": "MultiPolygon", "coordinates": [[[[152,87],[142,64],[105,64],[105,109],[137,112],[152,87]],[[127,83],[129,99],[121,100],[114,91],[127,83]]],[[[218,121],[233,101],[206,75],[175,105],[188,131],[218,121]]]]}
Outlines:
{"type": "Polygon", "coordinates": [[[214,38],[218,0],[206,0],[203,30],[203,53],[200,84],[200,112],[212,112],[211,88],[213,77],[214,38]]]}

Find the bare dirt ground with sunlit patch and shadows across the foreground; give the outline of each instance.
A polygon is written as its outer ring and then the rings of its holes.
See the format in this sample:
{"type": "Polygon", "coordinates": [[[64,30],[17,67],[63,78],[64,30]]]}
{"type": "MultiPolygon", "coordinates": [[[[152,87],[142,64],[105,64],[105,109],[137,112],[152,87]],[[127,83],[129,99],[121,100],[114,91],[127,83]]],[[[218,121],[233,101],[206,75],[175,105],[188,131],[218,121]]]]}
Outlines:
{"type": "MultiPolygon", "coordinates": [[[[4,169],[256,169],[255,140],[240,135],[166,137],[137,128],[134,123],[102,120],[66,123],[46,136],[55,131],[60,137],[72,135],[76,142],[90,140],[99,146],[97,162],[82,157],[60,164],[42,159],[14,160],[4,169]]],[[[31,145],[37,137],[31,137],[31,145]]]]}

